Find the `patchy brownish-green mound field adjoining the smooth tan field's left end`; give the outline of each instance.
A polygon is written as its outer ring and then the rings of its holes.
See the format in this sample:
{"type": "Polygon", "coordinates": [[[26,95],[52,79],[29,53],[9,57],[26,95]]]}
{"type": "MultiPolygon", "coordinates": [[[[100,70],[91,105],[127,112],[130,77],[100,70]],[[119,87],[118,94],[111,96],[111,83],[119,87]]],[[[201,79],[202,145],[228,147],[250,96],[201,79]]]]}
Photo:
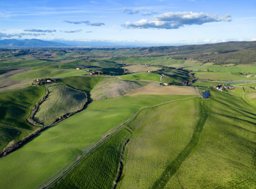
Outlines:
{"type": "Polygon", "coordinates": [[[148,82],[120,80],[117,77],[103,77],[90,92],[92,100],[102,100],[119,97],[136,90],[148,82]]]}

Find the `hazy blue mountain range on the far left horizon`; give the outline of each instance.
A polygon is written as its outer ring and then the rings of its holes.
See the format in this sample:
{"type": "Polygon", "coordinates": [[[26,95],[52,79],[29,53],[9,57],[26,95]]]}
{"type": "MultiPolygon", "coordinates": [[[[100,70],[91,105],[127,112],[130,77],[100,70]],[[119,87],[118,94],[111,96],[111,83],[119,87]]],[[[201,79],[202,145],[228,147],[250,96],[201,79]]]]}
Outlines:
{"type": "Polygon", "coordinates": [[[43,40],[37,40],[37,39],[31,39],[31,40],[7,39],[7,40],[0,40],[0,46],[63,47],[63,46],[70,46],[70,45],[67,45],[61,42],[43,41],[43,40]]]}

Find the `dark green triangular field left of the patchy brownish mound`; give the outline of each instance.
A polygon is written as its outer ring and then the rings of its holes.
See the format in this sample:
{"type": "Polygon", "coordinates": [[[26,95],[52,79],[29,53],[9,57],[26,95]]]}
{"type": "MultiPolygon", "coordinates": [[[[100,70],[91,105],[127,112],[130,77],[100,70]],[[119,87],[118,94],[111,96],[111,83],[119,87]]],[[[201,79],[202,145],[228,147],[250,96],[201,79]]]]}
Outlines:
{"type": "Polygon", "coordinates": [[[92,88],[102,79],[102,76],[73,76],[73,77],[63,77],[58,79],[58,81],[62,82],[69,87],[74,89],[82,90],[85,92],[90,92],[92,88]]]}

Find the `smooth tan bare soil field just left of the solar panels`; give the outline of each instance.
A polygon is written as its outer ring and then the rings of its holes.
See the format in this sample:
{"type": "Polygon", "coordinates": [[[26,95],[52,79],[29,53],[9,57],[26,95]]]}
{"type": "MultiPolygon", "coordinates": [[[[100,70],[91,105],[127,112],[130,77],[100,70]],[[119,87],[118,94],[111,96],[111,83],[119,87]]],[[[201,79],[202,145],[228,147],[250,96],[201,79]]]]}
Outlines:
{"type": "Polygon", "coordinates": [[[154,94],[154,95],[200,95],[195,87],[189,86],[160,86],[158,82],[150,83],[125,95],[154,94]]]}

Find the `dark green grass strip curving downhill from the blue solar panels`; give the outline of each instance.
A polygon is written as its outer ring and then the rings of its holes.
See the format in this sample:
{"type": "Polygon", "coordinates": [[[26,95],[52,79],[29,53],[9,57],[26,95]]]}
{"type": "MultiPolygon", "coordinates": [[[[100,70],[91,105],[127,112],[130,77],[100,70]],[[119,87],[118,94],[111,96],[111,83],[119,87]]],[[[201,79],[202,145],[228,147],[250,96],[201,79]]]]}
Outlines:
{"type": "Polygon", "coordinates": [[[199,102],[199,119],[197,121],[195,131],[191,140],[189,141],[187,146],[184,147],[184,149],[178,154],[178,156],[167,165],[166,169],[156,180],[151,189],[164,188],[169,179],[172,178],[172,176],[177,172],[182,162],[184,162],[184,160],[189,156],[190,152],[196,147],[208,114],[209,113],[207,111],[206,103],[199,102]]]}

